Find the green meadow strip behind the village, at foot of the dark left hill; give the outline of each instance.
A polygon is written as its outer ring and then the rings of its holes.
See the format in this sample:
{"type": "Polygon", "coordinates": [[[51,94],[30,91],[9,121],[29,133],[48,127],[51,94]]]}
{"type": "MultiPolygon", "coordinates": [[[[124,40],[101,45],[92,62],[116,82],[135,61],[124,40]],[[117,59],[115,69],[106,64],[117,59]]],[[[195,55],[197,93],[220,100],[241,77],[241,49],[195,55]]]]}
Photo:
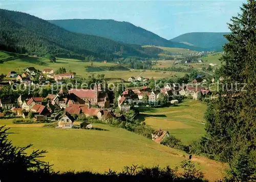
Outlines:
{"type": "Polygon", "coordinates": [[[152,78],[155,79],[158,78],[165,78],[170,76],[177,76],[182,77],[184,76],[184,73],[179,72],[155,72],[155,71],[142,71],[142,70],[132,70],[132,71],[106,71],[108,68],[113,67],[117,69],[123,69],[118,64],[114,63],[101,63],[101,62],[93,62],[93,67],[95,69],[92,69],[91,62],[82,62],[75,59],[63,59],[63,58],[57,58],[56,63],[51,63],[46,58],[38,58],[38,57],[27,57],[27,58],[19,58],[15,60],[5,61],[3,63],[0,63],[0,70],[3,74],[8,74],[10,71],[16,71],[17,73],[22,73],[22,71],[29,66],[34,66],[38,70],[43,69],[53,69],[57,70],[59,67],[65,67],[67,71],[71,70],[72,72],[75,72],[77,74],[77,77],[83,77],[87,78],[89,75],[92,74],[104,74],[105,78],[120,78],[127,80],[129,77],[134,76],[137,77],[143,76],[145,78],[152,78]],[[43,62],[43,65],[39,65],[40,62],[43,62]],[[15,66],[14,66],[15,65],[15,66]],[[93,72],[88,72],[88,70],[93,70],[93,72]]]}

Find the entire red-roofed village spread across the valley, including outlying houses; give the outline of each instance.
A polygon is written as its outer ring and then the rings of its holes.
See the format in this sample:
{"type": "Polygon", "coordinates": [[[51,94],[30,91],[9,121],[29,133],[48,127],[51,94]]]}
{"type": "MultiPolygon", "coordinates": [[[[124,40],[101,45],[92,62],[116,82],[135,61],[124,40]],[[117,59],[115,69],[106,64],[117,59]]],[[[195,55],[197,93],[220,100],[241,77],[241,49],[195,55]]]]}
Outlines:
{"type": "MultiPolygon", "coordinates": [[[[75,75],[73,73],[54,74],[52,69],[39,71],[34,67],[27,67],[22,74],[11,71],[6,77],[8,81],[1,81],[1,88],[14,83],[23,84],[25,87],[49,86],[53,83],[60,85],[65,80],[74,79],[75,75]]],[[[1,79],[4,77],[2,76],[1,79]]],[[[139,76],[130,77],[127,82],[148,82],[148,80],[148,78],[139,76]]],[[[101,83],[95,83],[90,89],[70,88],[66,91],[60,89],[57,93],[48,94],[47,97],[21,94],[18,98],[0,98],[0,118],[23,118],[34,123],[57,122],[56,128],[64,129],[73,128],[74,122],[81,116],[99,121],[112,119],[127,121],[124,113],[130,110],[134,110],[133,115],[136,116],[139,114],[138,108],[176,105],[182,102],[183,98],[198,100],[199,94],[209,98],[211,95],[209,90],[196,86],[201,82],[204,80],[199,78],[191,82],[194,86],[180,86],[172,83],[165,84],[161,89],[152,89],[148,86],[126,88],[118,96],[116,107],[113,96],[111,96],[113,93],[103,89],[101,83]]],[[[142,122],[142,124],[145,123],[142,122]]],[[[80,123],[80,128],[92,127],[91,123],[82,121],[80,123]]],[[[152,133],[152,140],[160,143],[166,135],[168,131],[157,129],[152,133]]]]}

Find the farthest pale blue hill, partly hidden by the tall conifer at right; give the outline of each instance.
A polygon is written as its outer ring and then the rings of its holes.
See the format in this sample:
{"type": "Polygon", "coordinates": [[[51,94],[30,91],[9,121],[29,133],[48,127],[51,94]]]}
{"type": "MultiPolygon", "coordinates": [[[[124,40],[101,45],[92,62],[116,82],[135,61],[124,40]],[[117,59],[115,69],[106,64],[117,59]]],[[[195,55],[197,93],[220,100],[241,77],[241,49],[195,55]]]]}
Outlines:
{"type": "Polygon", "coordinates": [[[227,42],[223,36],[228,34],[227,32],[194,32],[186,33],[170,39],[170,41],[182,42],[187,45],[193,45],[195,47],[205,48],[210,51],[222,51],[222,46],[227,42]]]}

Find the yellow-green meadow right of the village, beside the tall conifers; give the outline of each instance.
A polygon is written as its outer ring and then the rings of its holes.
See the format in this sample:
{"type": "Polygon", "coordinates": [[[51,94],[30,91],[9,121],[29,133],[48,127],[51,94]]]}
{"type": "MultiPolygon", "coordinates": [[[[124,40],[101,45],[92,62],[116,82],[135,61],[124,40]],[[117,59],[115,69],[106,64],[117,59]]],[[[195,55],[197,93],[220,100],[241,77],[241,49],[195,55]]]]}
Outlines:
{"type": "Polygon", "coordinates": [[[205,133],[203,115],[206,105],[194,100],[185,100],[177,106],[142,108],[147,125],[155,129],[168,130],[184,144],[199,139],[205,133]]]}

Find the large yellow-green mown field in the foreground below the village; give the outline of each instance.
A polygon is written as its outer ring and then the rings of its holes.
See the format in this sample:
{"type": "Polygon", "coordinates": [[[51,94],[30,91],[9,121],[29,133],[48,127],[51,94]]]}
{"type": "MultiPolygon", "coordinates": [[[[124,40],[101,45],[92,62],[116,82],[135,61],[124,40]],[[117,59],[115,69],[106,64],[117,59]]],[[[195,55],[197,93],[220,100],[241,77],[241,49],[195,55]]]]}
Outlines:
{"type": "MultiPolygon", "coordinates": [[[[159,145],[138,134],[109,125],[95,124],[99,130],[44,128],[42,124],[13,125],[12,120],[0,120],[11,127],[9,139],[14,145],[33,144],[32,149],[48,151],[45,161],[54,164],[56,171],[89,170],[94,172],[121,171],[132,164],[152,167],[179,166],[187,158],[183,151],[159,145]]],[[[32,150],[31,149],[31,150],[32,150]]],[[[31,151],[30,150],[30,151],[31,151]]],[[[197,168],[214,181],[223,177],[225,165],[193,156],[197,168]]]]}

